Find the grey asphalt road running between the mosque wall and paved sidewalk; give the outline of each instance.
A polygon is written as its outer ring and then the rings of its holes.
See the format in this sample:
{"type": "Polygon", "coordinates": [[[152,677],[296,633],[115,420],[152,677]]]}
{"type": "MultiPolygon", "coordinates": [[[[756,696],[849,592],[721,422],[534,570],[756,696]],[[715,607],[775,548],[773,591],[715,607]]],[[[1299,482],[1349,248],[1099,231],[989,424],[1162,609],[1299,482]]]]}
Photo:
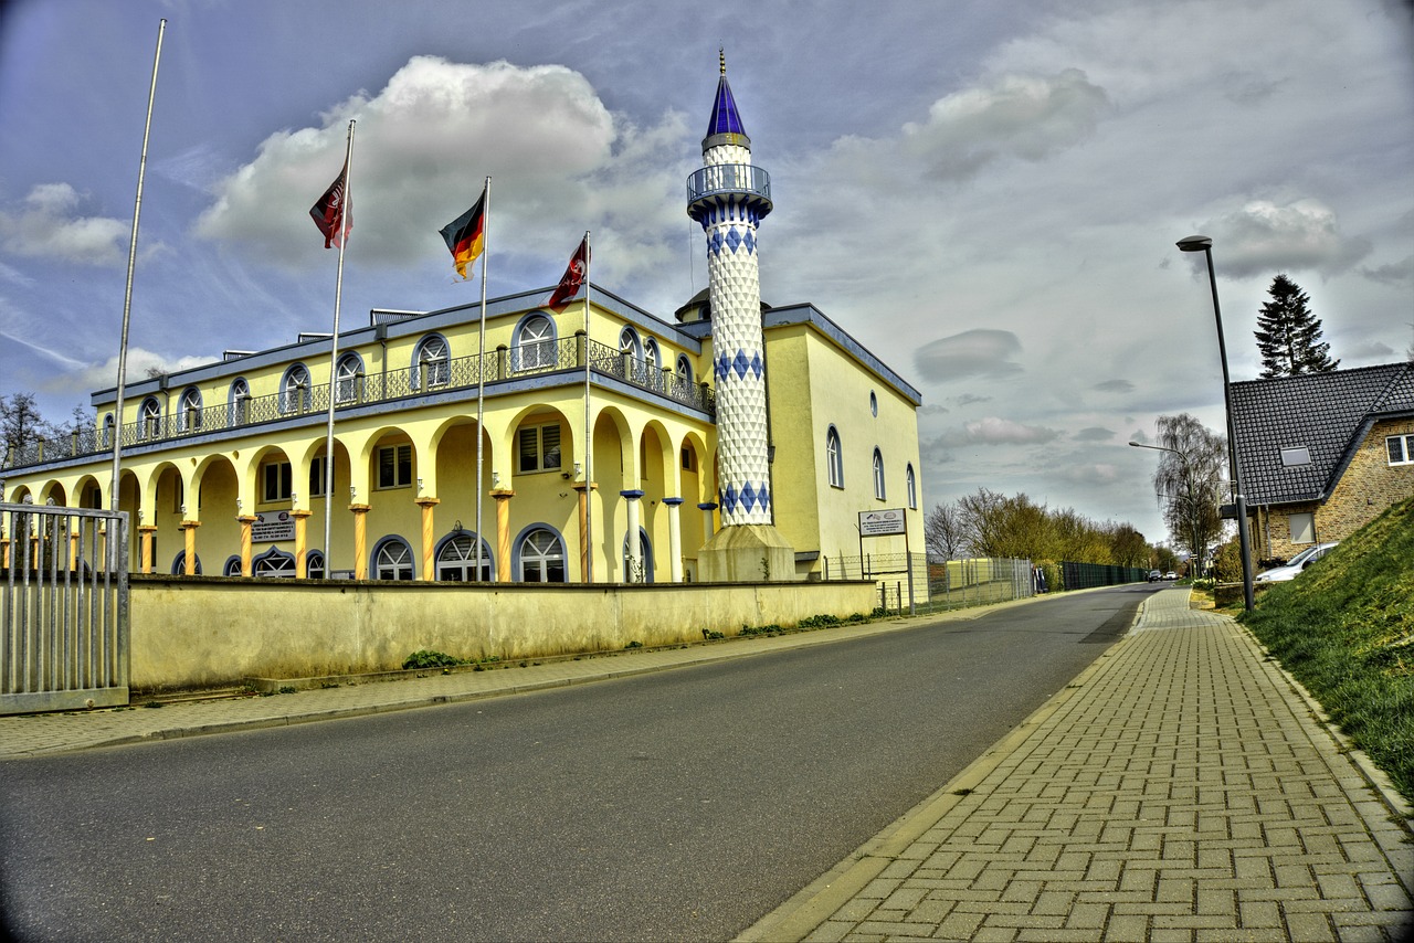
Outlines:
{"type": "Polygon", "coordinates": [[[1065,687],[1151,591],[6,762],[0,912],[25,942],[730,939],[1065,687]]]}

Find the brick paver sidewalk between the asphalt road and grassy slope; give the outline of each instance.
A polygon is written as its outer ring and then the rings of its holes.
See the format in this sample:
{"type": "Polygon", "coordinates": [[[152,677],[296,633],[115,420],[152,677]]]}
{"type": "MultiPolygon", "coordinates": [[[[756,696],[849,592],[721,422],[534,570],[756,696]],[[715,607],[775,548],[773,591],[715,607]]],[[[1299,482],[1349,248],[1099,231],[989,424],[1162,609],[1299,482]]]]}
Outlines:
{"type": "Polygon", "coordinates": [[[1414,844],[1232,619],[1135,631],[742,940],[1389,940],[1414,844]]]}

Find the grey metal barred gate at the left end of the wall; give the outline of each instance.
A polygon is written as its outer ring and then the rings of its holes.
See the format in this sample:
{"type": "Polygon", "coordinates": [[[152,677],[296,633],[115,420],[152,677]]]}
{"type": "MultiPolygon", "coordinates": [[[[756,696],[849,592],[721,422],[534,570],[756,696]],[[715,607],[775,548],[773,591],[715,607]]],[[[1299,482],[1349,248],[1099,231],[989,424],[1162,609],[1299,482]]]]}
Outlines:
{"type": "Polygon", "coordinates": [[[127,704],[127,513],[0,503],[0,714],[127,704]]]}

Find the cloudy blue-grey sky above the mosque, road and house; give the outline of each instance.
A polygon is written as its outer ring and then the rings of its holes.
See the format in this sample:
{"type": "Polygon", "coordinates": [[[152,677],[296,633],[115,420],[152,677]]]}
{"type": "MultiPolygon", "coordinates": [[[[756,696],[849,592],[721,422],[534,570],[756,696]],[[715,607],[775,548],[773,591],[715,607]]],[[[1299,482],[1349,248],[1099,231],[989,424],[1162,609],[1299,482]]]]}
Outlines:
{"type": "Polygon", "coordinates": [[[1226,421],[1184,236],[1233,380],[1278,273],[1342,368],[1414,349],[1408,0],[8,0],[0,394],[51,420],[116,383],[163,18],[130,377],[331,328],[308,209],[349,120],[345,324],[479,300],[437,230],[488,175],[492,297],[591,230],[594,283],[672,321],[718,48],[772,178],[762,298],[922,393],[925,509],[988,488],[1168,540],[1127,443],[1226,421]]]}

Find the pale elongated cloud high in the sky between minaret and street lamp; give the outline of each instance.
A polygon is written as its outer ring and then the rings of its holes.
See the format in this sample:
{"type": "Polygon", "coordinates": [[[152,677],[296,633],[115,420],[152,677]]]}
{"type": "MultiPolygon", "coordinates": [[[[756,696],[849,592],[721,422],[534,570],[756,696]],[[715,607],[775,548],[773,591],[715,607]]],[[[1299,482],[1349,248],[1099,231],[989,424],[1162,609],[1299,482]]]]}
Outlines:
{"type": "Polygon", "coordinates": [[[993,85],[933,102],[923,123],[904,126],[904,147],[939,180],[966,180],[1015,157],[1041,161],[1094,133],[1109,109],[1104,89],[1080,69],[1004,75],[993,85]]]}

